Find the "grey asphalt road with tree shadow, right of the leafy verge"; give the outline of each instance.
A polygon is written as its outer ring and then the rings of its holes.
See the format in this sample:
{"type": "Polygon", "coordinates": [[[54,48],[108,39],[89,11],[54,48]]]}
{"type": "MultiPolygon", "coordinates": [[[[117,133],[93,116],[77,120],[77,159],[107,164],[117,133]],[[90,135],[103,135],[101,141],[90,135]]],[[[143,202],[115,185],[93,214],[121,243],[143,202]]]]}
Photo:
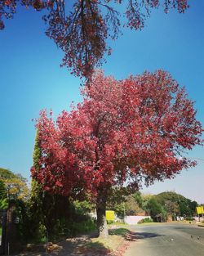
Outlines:
{"type": "Polygon", "coordinates": [[[136,225],[125,256],[204,256],[204,227],[188,224],[136,225]]]}

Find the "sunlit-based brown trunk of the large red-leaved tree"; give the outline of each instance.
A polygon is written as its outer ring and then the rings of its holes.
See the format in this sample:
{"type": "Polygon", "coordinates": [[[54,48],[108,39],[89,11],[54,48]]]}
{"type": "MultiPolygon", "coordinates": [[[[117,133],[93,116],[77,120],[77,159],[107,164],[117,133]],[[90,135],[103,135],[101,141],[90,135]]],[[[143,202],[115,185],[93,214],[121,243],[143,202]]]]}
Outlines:
{"type": "Polygon", "coordinates": [[[97,202],[96,202],[97,227],[98,227],[98,235],[100,238],[109,237],[109,231],[108,231],[107,221],[105,217],[106,201],[107,201],[107,191],[100,190],[98,193],[97,202]]]}

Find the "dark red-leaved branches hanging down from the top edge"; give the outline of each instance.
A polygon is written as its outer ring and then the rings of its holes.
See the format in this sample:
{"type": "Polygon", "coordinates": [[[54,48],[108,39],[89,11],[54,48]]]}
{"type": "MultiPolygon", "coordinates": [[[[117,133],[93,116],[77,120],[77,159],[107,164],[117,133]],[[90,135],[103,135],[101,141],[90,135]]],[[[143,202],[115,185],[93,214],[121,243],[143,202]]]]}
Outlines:
{"type": "Polygon", "coordinates": [[[105,53],[110,53],[107,38],[117,38],[120,32],[120,12],[116,3],[126,6],[126,26],[143,29],[144,20],[160,5],[167,13],[171,8],[184,12],[188,0],[0,0],[0,29],[5,18],[11,18],[18,5],[43,11],[46,34],[64,52],[62,65],[76,75],[88,78],[100,65],[105,53]]]}

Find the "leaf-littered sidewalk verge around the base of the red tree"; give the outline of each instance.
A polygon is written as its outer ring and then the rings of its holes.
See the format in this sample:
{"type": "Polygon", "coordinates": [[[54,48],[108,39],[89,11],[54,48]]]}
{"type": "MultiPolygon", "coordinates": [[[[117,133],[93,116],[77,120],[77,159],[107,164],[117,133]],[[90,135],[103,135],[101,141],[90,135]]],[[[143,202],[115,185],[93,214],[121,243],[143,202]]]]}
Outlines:
{"type": "Polygon", "coordinates": [[[34,245],[29,251],[13,256],[122,256],[132,240],[135,232],[127,228],[109,229],[109,239],[97,238],[97,232],[82,234],[74,238],[61,240],[57,244],[47,243],[40,247],[34,245]]]}

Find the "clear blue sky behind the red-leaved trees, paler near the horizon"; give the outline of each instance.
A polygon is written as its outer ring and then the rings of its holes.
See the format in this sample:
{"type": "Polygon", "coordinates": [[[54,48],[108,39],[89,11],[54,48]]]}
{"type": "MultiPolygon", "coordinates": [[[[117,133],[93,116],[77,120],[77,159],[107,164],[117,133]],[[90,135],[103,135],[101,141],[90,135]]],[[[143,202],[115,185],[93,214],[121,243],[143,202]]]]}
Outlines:
{"type": "MultiPolygon", "coordinates": [[[[113,54],[103,65],[105,74],[124,79],[144,70],[169,71],[196,101],[197,119],[204,126],[204,1],[190,1],[185,14],[153,11],[144,30],[124,30],[109,42],[113,54]]],[[[41,13],[20,7],[0,32],[0,166],[29,178],[35,137],[32,119],[43,108],[55,115],[80,101],[79,79],[60,68],[63,56],[44,34],[41,13]]],[[[204,147],[189,153],[197,167],[172,181],[156,183],[144,192],[175,190],[204,202],[204,147]]]]}

